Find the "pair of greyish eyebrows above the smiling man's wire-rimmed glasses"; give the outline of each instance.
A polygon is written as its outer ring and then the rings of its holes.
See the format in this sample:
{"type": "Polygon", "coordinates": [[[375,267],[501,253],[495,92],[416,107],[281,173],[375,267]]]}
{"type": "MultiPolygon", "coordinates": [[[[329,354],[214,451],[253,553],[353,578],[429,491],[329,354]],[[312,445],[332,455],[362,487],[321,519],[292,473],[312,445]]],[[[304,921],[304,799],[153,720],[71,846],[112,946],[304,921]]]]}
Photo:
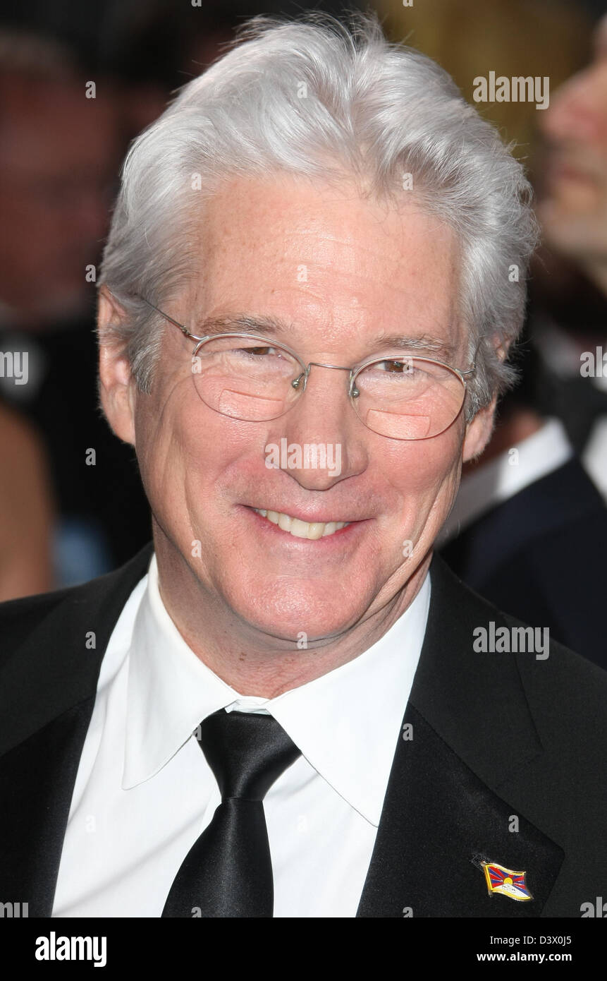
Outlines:
{"type": "MultiPolygon", "coordinates": [[[[285,324],[283,321],[278,320],[275,317],[254,317],[247,314],[238,314],[235,316],[225,317],[207,317],[196,325],[195,330],[197,336],[204,337],[215,336],[217,334],[237,334],[242,332],[246,334],[272,336],[276,337],[277,340],[284,340],[286,345],[291,347],[293,350],[296,349],[295,345],[291,343],[291,337],[296,332],[295,327],[285,324]]],[[[433,337],[426,333],[419,336],[396,334],[388,335],[380,333],[366,346],[369,351],[369,354],[366,355],[366,357],[371,356],[376,351],[387,347],[400,348],[401,350],[422,351],[434,356],[438,355],[443,360],[453,358],[456,353],[456,347],[454,344],[450,344],[439,337],[433,337]]]]}

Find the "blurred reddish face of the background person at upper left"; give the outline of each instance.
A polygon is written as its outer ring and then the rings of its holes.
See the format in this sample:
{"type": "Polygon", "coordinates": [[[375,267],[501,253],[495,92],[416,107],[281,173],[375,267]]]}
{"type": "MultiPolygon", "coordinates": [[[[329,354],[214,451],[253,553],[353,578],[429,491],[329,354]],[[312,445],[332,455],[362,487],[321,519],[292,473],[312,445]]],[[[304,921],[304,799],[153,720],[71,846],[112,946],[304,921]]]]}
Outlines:
{"type": "Polygon", "coordinates": [[[25,321],[77,311],[107,231],[120,147],[111,99],[4,80],[0,298],[25,321]]]}

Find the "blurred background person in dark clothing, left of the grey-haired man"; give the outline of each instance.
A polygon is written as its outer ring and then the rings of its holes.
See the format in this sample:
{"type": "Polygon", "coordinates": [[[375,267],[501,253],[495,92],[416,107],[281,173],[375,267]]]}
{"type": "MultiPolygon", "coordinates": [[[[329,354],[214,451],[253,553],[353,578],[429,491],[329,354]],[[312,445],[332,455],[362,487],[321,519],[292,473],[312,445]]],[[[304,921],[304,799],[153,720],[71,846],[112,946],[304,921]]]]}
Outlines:
{"type": "Polygon", "coordinates": [[[57,42],[0,33],[0,350],[27,361],[25,384],[0,373],[0,399],[46,448],[56,585],[109,570],[149,536],[134,456],[95,383],[96,263],[123,150],[107,79],[57,42]]]}

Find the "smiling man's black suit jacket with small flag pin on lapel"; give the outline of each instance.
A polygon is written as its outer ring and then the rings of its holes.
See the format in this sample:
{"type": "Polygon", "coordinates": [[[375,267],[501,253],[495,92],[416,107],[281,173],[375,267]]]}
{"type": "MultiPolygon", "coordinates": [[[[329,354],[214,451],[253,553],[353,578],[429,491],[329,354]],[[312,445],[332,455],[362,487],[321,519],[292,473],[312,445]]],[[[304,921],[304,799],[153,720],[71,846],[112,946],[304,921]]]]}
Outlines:
{"type": "MultiPolygon", "coordinates": [[[[52,911],[100,664],[150,549],[0,606],[0,900],[30,916],[52,911]]],[[[394,748],[357,915],[578,917],[607,895],[607,674],[559,645],[546,660],[476,653],[475,628],[517,621],[438,558],[431,585],[403,719],[412,738],[394,748]],[[525,871],[533,899],[489,896],[481,859],[525,871]]]]}

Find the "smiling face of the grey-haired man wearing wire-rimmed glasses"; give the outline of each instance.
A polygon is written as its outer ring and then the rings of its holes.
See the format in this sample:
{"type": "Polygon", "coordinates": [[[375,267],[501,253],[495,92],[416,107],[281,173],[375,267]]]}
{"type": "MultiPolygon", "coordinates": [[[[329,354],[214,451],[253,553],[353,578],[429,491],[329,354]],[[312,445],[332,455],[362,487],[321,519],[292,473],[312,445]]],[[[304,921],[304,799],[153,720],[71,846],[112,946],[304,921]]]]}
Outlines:
{"type": "MultiPolygon", "coordinates": [[[[291,325],[286,342],[306,364],[402,356],[380,344],[382,335],[402,335],[448,344],[450,363],[469,367],[455,236],[413,199],[398,213],[354,189],[238,179],[213,199],[203,235],[191,288],[166,310],[193,333],[207,317],[265,316],[291,325]]],[[[347,372],[313,367],[288,413],[241,422],[200,399],[193,346],[169,327],[152,393],[134,396],[127,438],[157,536],[202,585],[202,604],[210,594],[273,637],[339,635],[379,610],[428,559],[457,490],[462,414],[432,439],[386,439],[353,411],[347,372]],[[269,469],[265,448],[281,439],[338,445],[339,472],[269,469]],[[308,540],[254,508],[350,524],[308,540]]],[[[483,418],[469,427],[470,452],[488,435],[483,418]]]]}

